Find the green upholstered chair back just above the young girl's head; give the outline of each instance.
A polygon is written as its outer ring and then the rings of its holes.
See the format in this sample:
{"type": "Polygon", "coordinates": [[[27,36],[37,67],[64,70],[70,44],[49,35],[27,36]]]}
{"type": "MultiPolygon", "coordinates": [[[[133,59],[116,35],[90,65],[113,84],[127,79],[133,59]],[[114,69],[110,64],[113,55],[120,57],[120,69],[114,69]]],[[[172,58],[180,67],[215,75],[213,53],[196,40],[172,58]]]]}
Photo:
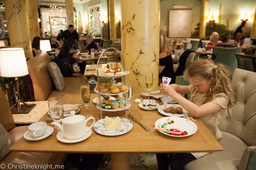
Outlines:
{"type": "Polygon", "coordinates": [[[215,54],[216,59],[214,63],[225,64],[230,67],[231,74],[237,68],[236,52],[241,53],[242,47],[235,48],[224,48],[224,47],[213,47],[212,54],[215,54]]]}

